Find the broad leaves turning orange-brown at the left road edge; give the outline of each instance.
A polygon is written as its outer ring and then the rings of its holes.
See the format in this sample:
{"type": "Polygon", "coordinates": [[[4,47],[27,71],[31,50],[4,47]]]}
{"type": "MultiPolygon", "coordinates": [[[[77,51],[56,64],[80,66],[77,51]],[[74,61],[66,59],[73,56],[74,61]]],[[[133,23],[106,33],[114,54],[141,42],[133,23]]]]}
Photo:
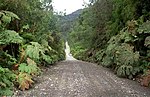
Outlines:
{"type": "Polygon", "coordinates": [[[34,83],[32,77],[40,73],[40,68],[30,58],[27,58],[27,63],[19,64],[18,70],[17,82],[21,90],[29,89],[32,83],[34,83]]]}

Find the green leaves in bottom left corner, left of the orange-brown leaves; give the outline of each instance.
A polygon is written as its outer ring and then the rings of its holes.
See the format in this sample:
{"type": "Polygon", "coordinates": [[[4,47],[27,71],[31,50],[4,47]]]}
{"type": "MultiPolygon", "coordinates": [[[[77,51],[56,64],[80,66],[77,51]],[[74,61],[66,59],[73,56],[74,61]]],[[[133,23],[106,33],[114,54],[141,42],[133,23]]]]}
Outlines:
{"type": "Polygon", "coordinates": [[[13,94],[13,81],[16,75],[8,68],[0,67],[0,96],[10,96],[13,94]]]}

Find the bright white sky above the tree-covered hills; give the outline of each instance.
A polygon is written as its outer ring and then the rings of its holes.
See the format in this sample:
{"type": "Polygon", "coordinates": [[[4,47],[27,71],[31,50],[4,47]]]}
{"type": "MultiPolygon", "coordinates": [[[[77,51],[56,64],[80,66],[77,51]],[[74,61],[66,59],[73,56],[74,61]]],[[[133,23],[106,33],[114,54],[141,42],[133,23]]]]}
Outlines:
{"type": "Polygon", "coordinates": [[[57,12],[64,12],[66,10],[66,14],[70,14],[78,9],[84,8],[83,2],[86,3],[89,0],[52,0],[54,10],[57,12]]]}

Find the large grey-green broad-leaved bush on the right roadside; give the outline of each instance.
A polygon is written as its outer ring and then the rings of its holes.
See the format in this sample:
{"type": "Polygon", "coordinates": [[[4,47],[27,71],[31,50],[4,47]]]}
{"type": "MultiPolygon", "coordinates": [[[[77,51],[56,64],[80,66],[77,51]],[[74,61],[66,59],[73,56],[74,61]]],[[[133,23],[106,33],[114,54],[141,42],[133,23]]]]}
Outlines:
{"type": "MultiPolygon", "coordinates": [[[[134,29],[133,29],[134,30],[134,29]]],[[[102,65],[115,69],[118,76],[132,78],[141,71],[139,67],[140,54],[134,52],[133,44],[136,41],[135,33],[123,29],[108,41],[104,52],[106,55],[99,56],[102,65]]],[[[103,53],[102,53],[103,54],[103,53]]]]}

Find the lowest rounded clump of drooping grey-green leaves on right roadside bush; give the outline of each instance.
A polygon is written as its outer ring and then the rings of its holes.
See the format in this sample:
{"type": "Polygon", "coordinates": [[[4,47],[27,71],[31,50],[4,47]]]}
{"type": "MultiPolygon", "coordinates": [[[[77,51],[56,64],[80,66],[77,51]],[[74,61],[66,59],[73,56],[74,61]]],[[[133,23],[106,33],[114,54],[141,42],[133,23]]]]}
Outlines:
{"type": "Polygon", "coordinates": [[[115,64],[117,75],[121,77],[133,78],[140,72],[139,53],[133,52],[133,47],[128,44],[122,44],[116,48],[115,64]]]}

